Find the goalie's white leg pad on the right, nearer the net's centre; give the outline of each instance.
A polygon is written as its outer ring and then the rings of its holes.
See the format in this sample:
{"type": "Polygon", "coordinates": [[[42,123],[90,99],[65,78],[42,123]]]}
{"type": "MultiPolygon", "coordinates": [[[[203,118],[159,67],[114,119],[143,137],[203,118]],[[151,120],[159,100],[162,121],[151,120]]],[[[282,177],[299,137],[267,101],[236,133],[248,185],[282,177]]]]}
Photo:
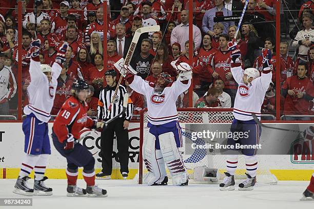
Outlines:
{"type": "Polygon", "coordinates": [[[172,132],[159,135],[160,149],[164,161],[172,177],[173,185],[181,185],[188,181],[188,174],[184,167],[182,157],[174,140],[172,132]]]}

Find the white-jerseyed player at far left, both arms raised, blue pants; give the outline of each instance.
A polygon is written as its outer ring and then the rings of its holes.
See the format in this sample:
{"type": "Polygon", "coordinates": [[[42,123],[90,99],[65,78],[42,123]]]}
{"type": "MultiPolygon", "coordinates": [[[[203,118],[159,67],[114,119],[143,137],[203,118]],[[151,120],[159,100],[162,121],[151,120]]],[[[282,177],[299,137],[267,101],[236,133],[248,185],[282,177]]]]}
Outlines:
{"type": "Polygon", "coordinates": [[[57,53],[52,67],[41,65],[39,54],[41,40],[37,39],[31,43],[31,60],[29,73],[30,85],[27,88],[29,105],[24,108],[27,115],[23,121],[23,132],[25,134],[25,156],[22,160],[21,171],[16,180],[13,193],[32,195],[52,195],[52,189],[47,187],[44,181],[48,155],[51,154],[48,137],[48,121],[53,106],[53,100],[57,87],[62,64],[65,61],[65,53],[68,44],[64,43],[57,53]],[[27,185],[29,174],[34,170],[34,189],[27,185]]]}

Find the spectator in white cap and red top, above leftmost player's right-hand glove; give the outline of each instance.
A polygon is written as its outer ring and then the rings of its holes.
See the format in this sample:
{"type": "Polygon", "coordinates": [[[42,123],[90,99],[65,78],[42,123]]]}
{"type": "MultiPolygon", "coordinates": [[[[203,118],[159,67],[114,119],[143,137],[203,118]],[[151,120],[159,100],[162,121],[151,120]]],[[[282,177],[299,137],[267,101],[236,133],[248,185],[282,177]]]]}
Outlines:
{"type": "Polygon", "coordinates": [[[68,14],[69,8],[70,4],[67,1],[63,1],[62,3],[60,3],[60,15],[58,15],[52,20],[51,32],[60,35],[62,31],[66,29],[67,27],[66,18],[69,15],[68,14]]]}

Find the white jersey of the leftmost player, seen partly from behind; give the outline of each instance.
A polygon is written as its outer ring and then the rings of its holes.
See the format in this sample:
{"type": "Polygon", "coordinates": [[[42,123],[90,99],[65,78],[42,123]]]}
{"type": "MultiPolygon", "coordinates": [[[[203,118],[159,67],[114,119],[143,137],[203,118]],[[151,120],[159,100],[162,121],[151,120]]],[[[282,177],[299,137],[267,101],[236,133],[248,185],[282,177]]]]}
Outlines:
{"type": "Polygon", "coordinates": [[[54,62],[52,65],[52,79],[48,81],[47,76],[41,70],[41,62],[31,58],[29,73],[31,77],[30,85],[27,87],[29,105],[24,108],[24,113],[33,113],[36,118],[43,122],[50,120],[50,112],[53,106],[57,78],[61,73],[62,67],[54,62]]]}

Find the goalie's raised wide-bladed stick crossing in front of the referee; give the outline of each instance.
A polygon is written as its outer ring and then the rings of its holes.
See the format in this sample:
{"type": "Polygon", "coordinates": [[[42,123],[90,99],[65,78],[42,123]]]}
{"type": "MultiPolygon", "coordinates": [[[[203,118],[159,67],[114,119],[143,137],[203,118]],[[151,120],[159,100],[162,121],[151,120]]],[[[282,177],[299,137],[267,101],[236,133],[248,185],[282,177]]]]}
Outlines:
{"type": "MultiPolygon", "coordinates": [[[[135,48],[136,48],[136,44],[138,44],[138,41],[139,41],[139,38],[141,36],[142,33],[149,33],[149,32],[155,32],[155,31],[160,31],[160,26],[147,26],[147,27],[144,27],[144,28],[139,28],[135,31],[134,33],[134,36],[132,38],[132,43],[130,45],[130,48],[128,50],[128,53],[124,59],[124,63],[123,63],[123,66],[128,66],[130,65],[130,62],[131,62],[131,59],[132,59],[132,56],[133,56],[133,53],[135,51],[135,48]]],[[[122,81],[122,78],[123,76],[121,75],[120,76],[120,79],[116,85],[116,88],[115,88],[115,91],[114,91],[114,94],[112,96],[112,99],[111,99],[111,102],[110,102],[110,106],[108,108],[108,112],[111,111],[111,107],[112,107],[112,103],[116,97],[116,94],[119,90],[119,86],[120,86],[120,83],[122,81]]]]}

